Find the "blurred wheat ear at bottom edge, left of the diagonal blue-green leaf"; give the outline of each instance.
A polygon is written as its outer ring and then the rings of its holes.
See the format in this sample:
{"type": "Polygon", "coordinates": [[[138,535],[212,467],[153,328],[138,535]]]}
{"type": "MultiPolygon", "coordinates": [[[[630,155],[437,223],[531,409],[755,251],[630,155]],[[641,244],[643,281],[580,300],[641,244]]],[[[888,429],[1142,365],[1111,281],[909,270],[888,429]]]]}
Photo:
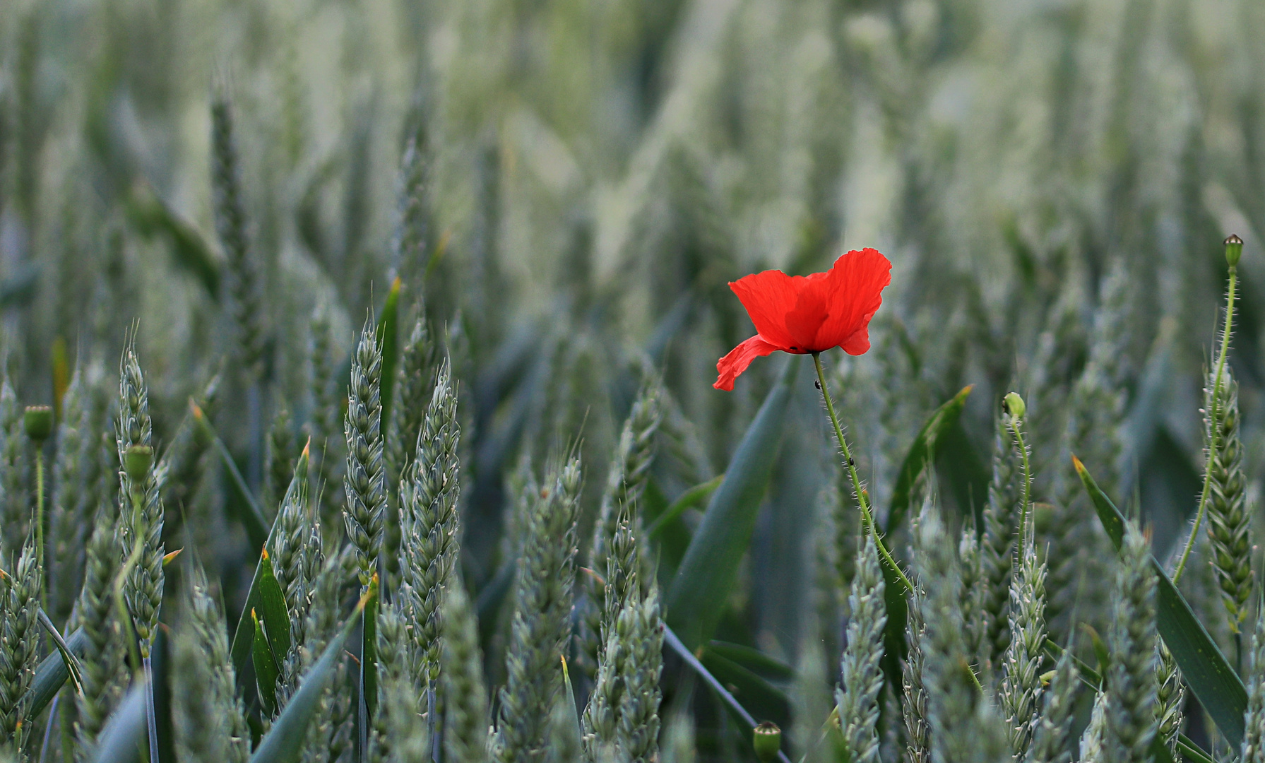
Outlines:
{"type": "Polygon", "coordinates": [[[206,574],[195,566],[186,629],[176,638],[173,723],[181,760],[245,763],[250,730],[234,695],[228,631],[206,574]]]}

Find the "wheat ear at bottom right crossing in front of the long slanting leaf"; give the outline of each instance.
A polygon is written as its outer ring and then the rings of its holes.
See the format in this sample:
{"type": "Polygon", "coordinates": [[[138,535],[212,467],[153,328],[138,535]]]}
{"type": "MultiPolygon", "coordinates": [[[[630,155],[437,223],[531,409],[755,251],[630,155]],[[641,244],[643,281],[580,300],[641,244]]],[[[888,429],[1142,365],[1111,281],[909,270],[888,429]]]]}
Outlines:
{"type": "Polygon", "coordinates": [[[1156,733],[1156,631],[1155,572],[1150,547],[1136,525],[1130,524],[1121,549],[1108,648],[1107,674],[1109,750],[1127,760],[1149,759],[1156,733]]]}

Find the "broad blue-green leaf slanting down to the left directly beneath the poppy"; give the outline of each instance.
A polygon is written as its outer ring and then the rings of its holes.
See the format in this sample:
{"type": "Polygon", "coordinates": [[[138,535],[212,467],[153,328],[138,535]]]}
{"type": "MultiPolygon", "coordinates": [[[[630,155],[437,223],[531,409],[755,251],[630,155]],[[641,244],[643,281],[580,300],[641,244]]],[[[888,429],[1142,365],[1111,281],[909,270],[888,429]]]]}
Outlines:
{"type": "Polygon", "coordinates": [[[746,428],[672,582],[667,620],[691,649],[711,636],[737,580],[782,443],[798,361],[788,359],[746,428]]]}

